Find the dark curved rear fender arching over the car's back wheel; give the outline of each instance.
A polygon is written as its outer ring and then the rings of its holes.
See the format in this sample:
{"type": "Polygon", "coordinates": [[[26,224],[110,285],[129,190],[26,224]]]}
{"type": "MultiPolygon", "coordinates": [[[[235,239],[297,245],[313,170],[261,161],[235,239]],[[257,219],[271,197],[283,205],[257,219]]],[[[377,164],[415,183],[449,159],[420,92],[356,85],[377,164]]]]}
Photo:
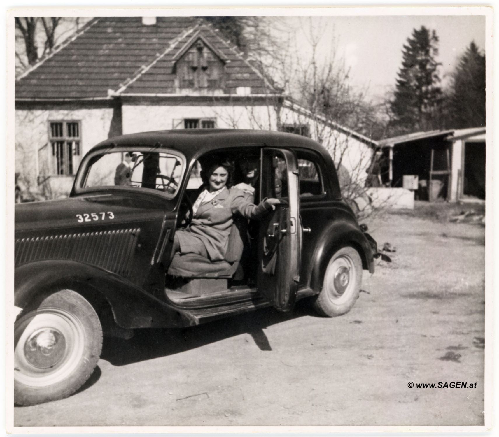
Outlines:
{"type": "Polygon", "coordinates": [[[320,291],[322,277],[327,263],[333,253],[340,247],[350,245],[354,247],[362,259],[362,268],[374,273],[374,258],[371,244],[364,233],[349,221],[331,221],[322,229],[318,244],[313,254],[310,288],[320,291]]]}

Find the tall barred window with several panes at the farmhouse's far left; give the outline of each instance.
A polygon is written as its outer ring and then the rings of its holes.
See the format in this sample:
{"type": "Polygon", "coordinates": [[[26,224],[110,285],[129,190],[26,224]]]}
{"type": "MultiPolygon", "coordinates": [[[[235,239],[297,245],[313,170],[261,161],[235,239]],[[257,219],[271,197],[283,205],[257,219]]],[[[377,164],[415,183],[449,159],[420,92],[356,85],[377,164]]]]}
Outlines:
{"type": "Polygon", "coordinates": [[[74,175],[81,158],[79,121],[50,122],[51,173],[74,175]]]}

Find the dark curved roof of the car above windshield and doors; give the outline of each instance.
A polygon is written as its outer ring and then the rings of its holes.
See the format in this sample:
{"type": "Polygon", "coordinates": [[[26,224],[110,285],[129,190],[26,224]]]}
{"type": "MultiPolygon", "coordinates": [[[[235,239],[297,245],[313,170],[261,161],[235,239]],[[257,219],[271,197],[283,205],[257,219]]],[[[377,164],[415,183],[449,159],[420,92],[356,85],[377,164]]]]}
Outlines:
{"type": "Polygon", "coordinates": [[[122,135],[102,141],[91,152],[113,146],[157,146],[178,150],[187,159],[218,149],[267,146],[311,149],[329,156],[319,143],[286,132],[239,129],[178,129],[122,135]]]}

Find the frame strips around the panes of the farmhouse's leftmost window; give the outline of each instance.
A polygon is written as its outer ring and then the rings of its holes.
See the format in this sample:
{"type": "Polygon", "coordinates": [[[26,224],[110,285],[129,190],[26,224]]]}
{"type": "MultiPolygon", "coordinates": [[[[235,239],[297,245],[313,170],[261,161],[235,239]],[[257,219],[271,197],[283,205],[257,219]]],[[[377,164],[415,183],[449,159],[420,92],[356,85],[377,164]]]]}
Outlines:
{"type": "MultiPolygon", "coordinates": [[[[63,120],[48,120],[47,121],[47,134],[48,134],[48,171],[49,174],[47,176],[50,177],[75,177],[76,174],[78,173],[78,167],[82,159],[82,143],[83,143],[83,135],[82,135],[82,120],[75,120],[75,119],[63,119],[63,120]],[[60,123],[62,124],[62,136],[60,137],[53,137],[52,136],[52,124],[55,123],[60,123]],[[77,137],[69,137],[67,135],[67,125],[70,123],[76,123],[78,125],[78,136],[77,137]],[[54,156],[52,152],[52,147],[55,146],[57,147],[56,144],[57,142],[63,142],[64,143],[64,150],[67,150],[67,144],[69,142],[78,142],[78,154],[71,154],[71,167],[72,167],[72,173],[59,173],[57,171],[57,163],[58,163],[58,157],[57,157],[57,152],[54,156]],[[76,159],[75,159],[76,157],[76,159]],[[54,168],[55,167],[55,168],[54,168]]],[[[72,149],[71,149],[72,150],[72,149]]],[[[67,157],[67,155],[66,155],[67,157]]],[[[64,159],[64,157],[63,157],[64,159]]],[[[64,168],[69,169],[69,160],[64,162],[64,168]]]]}

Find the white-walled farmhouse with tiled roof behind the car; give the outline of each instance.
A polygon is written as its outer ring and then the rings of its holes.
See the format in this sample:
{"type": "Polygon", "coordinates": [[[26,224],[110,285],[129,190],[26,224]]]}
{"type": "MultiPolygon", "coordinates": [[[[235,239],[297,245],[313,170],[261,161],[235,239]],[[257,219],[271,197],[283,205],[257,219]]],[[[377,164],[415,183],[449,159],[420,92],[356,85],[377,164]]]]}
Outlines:
{"type": "Polygon", "coordinates": [[[106,138],[193,128],[308,135],[354,180],[376,144],[275,90],[202,18],[96,17],[15,83],[15,171],[49,195],[67,194],[106,138]]]}

